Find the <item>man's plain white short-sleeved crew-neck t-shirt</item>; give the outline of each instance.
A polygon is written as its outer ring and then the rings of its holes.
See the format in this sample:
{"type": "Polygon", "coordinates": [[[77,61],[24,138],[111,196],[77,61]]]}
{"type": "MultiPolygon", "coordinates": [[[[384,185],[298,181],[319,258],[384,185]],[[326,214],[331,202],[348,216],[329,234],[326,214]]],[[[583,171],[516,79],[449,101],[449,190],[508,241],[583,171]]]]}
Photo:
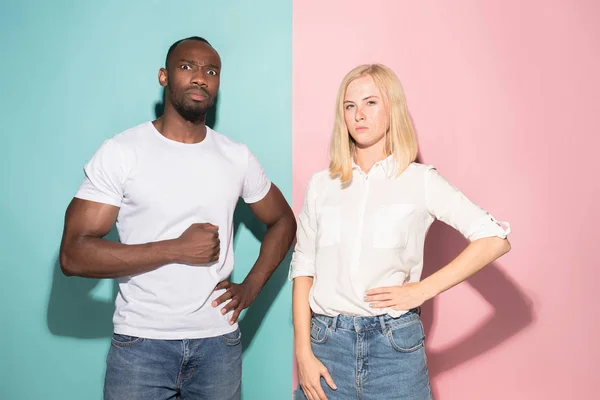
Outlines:
{"type": "Polygon", "coordinates": [[[233,212],[264,198],[271,187],[249,149],[207,127],[184,144],[146,122],[106,140],[86,164],[75,197],[120,207],[124,244],[179,237],[193,223],[219,227],[221,253],[210,267],[169,264],[119,279],[115,333],[151,339],[212,337],[234,331],[221,314],[215,286],[233,271],[233,212]]]}

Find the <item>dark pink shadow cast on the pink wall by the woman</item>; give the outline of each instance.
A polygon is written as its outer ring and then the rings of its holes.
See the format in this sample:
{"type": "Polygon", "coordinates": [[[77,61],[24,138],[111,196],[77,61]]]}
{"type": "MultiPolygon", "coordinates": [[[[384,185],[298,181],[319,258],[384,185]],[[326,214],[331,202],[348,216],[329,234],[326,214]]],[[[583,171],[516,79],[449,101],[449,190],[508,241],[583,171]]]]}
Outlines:
{"type": "MultiPolygon", "coordinates": [[[[425,241],[425,265],[422,279],[448,264],[466,246],[468,241],[452,227],[435,221],[425,241]]],[[[471,285],[493,308],[493,314],[474,331],[442,351],[427,350],[429,376],[435,399],[436,378],[452,368],[468,362],[516,335],[534,320],[531,301],[519,286],[506,275],[498,264],[492,263],[473,275],[463,284],[471,285]]],[[[434,298],[422,307],[421,319],[428,334],[436,318],[434,298]]],[[[429,342],[429,337],[426,343],[429,342]]]]}

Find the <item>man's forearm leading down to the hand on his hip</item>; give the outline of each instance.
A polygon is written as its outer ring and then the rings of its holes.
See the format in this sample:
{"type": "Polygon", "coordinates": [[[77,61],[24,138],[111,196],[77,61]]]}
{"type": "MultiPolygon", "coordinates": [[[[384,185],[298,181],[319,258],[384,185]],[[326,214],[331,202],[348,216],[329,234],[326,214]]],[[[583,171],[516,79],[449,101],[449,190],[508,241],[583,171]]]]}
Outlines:
{"type": "Polygon", "coordinates": [[[244,279],[256,294],[267,283],[277,266],[289,251],[296,236],[296,220],[294,215],[283,217],[267,228],[267,233],[260,246],[260,254],[256,263],[244,279]]]}

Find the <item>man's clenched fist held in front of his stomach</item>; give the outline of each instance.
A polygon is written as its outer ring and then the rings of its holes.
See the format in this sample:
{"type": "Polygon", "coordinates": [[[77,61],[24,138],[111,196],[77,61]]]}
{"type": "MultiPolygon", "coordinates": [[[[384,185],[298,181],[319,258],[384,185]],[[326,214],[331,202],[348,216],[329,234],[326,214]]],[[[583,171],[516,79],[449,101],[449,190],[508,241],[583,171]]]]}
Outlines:
{"type": "Polygon", "coordinates": [[[219,227],[212,224],[192,224],[176,240],[179,262],[202,265],[215,262],[221,251],[219,227]]]}

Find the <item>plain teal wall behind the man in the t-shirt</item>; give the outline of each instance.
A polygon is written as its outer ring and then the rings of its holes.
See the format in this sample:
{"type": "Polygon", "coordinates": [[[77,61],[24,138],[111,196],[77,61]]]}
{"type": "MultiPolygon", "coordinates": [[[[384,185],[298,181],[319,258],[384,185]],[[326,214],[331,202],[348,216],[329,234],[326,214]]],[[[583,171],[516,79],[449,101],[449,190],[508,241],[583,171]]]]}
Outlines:
{"type": "MultiPolygon", "coordinates": [[[[0,33],[0,398],[101,399],[115,287],[57,263],[83,165],[156,117],[169,45],[199,35],[223,60],[215,129],[246,143],[291,202],[291,0],[10,0],[0,33]]],[[[243,205],[236,226],[240,281],[264,230],[243,205]]],[[[287,262],[243,315],[246,400],[291,396],[287,262]]]]}

